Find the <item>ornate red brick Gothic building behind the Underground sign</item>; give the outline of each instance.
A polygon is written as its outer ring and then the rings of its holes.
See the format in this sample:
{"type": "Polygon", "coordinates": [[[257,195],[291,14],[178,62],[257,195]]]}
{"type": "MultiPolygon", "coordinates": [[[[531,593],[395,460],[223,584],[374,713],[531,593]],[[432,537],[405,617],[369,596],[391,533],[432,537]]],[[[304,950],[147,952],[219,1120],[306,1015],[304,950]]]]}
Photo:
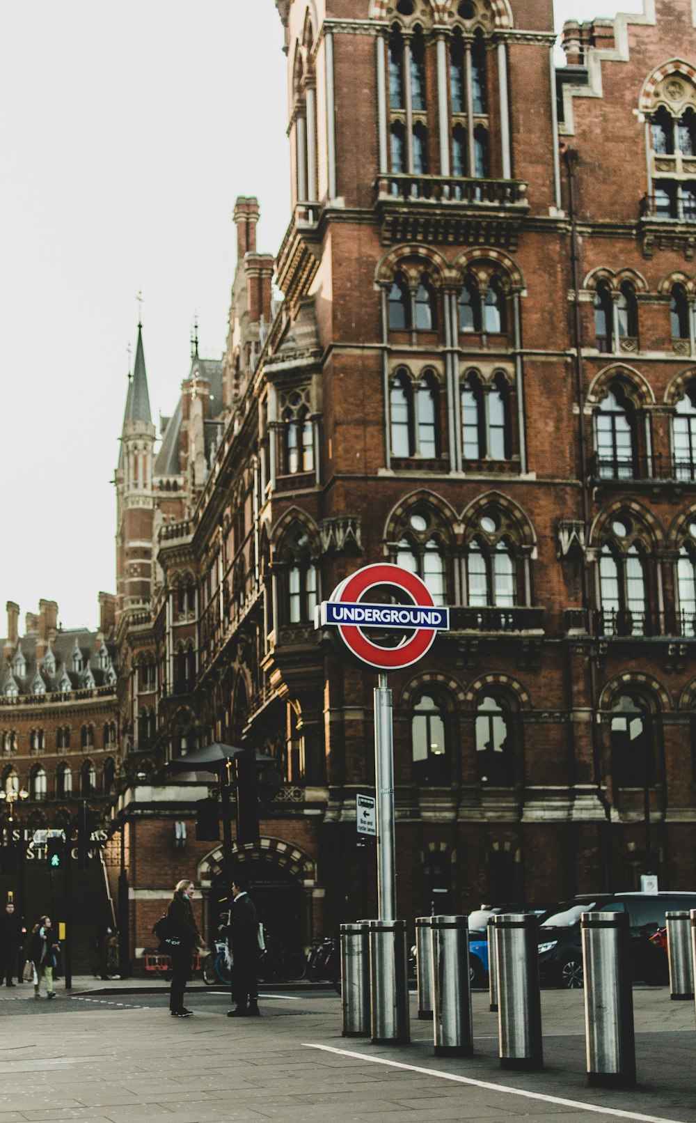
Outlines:
{"type": "Polygon", "coordinates": [[[383,558],[452,621],[391,682],[400,914],[690,888],[692,6],[568,24],[558,69],[550,0],[276,6],[287,232],[274,263],[237,201],[222,362],[194,347],[156,456],[146,395],[123,429],[135,946],[181,869],[219,877],[207,785],[159,783],[210,740],[280,763],[239,859],[289,939],[374,907],[374,676],[313,610],[383,558]]]}

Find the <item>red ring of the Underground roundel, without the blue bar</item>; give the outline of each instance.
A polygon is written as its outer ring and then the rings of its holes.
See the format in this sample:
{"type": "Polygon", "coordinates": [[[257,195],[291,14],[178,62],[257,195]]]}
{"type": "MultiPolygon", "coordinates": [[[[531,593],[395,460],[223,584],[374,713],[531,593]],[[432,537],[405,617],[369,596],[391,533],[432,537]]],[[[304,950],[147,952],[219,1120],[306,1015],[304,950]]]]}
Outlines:
{"type": "MultiPolygon", "coordinates": [[[[407,593],[414,604],[434,608],[428,586],[420,577],[399,565],[377,563],[366,565],[333,591],[332,601],[355,603],[375,585],[395,585],[407,593]]],[[[421,628],[401,647],[378,647],[360,631],[357,624],[339,624],[344,642],[354,655],[378,670],[399,670],[418,663],[425,655],[436,637],[434,628],[421,628]]]]}

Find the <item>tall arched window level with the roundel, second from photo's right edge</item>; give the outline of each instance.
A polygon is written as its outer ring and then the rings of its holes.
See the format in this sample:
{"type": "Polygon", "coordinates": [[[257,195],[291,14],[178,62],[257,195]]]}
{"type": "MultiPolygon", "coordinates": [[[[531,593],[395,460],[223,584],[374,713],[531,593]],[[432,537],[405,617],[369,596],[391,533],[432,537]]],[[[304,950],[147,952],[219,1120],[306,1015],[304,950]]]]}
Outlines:
{"type": "Polygon", "coordinates": [[[644,636],[648,623],[645,551],[625,517],[599,554],[599,595],[605,634],[644,636]]]}

